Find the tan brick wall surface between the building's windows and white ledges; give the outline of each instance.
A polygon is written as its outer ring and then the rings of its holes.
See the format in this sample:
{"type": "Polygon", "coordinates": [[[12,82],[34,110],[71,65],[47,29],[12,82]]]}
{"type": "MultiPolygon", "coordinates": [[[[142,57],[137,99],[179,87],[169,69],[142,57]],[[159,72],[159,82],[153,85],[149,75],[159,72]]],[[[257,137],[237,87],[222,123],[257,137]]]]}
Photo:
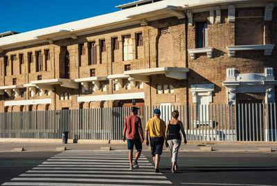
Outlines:
{"type": "MultiPolygon", "coordinates": [[[[237,8],[235,23],[228,22],[228,10],[221,11],[221,24],[208,24],[208,47],[213,47],[213,57],[208,58],[206,53],[196,55],[196,59],[190,59],[186,56],[186,49],[196,48],[196,27],[195,23],[199,21],[208,21],[209,12],[199,12],[193,14],[193,26],[186,26],[185,19],[170,17],[148,23],[148,26],[128,26],[97,32],[89,35],[82,35],[78,39],[62,39],[54,41],[53,44],[41,44],[7,50],[0,56],[0,85],[12,85],[12,78],[17,78],[17,84],[28,84],[37,80],[38,75],[42,75],[42,80],[57,79],[64,77],[64,59],[66,51],[70,57],[70,78],[77,79],[90,76],[90,69],[96,69],[96,76],[107,77],[111,74],[122,74],[124,66],[131,64],[131,70],[156,68],[163,66],[188,67],[188,80],[175,80],[165,75],[151,75],[150,83],[143,84],[143,89],[138,86],[127,90],[126,86],[114,90],[114,80],[101,82],[106,84],[107,91],[92,90],[92,84],[89,84],[89,91],[82,93],[80,89],[66,89],[55,85],[55,91],[51,95],[39,95],[39,91],[33,97],[30,97],[26,89],[24,97],[10,97],[4,99],[0,95],[0,112],[4,111],[4,100],[27,100],[51,98],[50,105],[33,106],[9,106],[8,111],[45,110],[45,109],[69,109],[79,108],[98,108],[101,106],[109,107],[116,105],[117,101],[108,102],[77,102],[78,96],[137,93],[145,92],[145,105],[159,105],[170,102],[172,105],[192,104],[192,93],[190,86],[192,84],[215,84],[213,92],[213,103],[226,103],[226,89],[222,82],[226,80],[226,68],[236,68],[237,73],[263,73],[264,67],[274,67],[276,71],[276,47],[271,56],[265,56],[264,51],[242,51],[236,52],[235,57],[228,56],[226,46],[238,44],[277,44],[277,12],[273,12],[272,21],[263,21],[265,8],[237,8]],[[186,29],[188,30],[186,41],[186,29]],[[143,35],[143,46],[136,46],[136,33],[143,35]],[[131,35],[133,44],[133,59],[123,60],[123,36],[131,35]],[[255,37],[253,37],[255,35],[255,37]],[[113,50],[113,39],[118,38],[119,49],[113,50]],[[100,39],[105,39],[106,51],[100,53],[100,39]],[[97,64],[89,64],[89,45],[91,41],[96,42],[97,64]],[[85,53],[80,54],[80,44],[84,44],[85,53]],[[186,45],[188,48],[186,48],[186,45]],[[50,59],[45,62],[45,50],[49,50],[50,59]],[[36,72],[36,52],[42,51],[44,70],[36,72]],[[28,63],[28,53],[33,54],[33,62],[28,63]],[[24,55],[24,64],[19,74],[19,54],[24,55]],[[13,75],[11,75],[11,56],[16,59],[13,64],[13,75]],[[4,77],[3,58],[8,57],[7,75],[4,77]],[[45,67],[47,64],[47,69],[45,67]],[[30,65],[30,73],[28,68],[30,65]],[[174,93],[157,94],[157,85],[164,84],[174,86],[174,93]],[[71,94],[71,100],[60,100],[64,93],[71,94]],[[188,95],[188,97],[187,97],[188,95]]],[[[127,80],[125,80],[125,84],[127,80]]],[[[80,86],[81,87],[81,86],[80,86]]],[[[255,98],[255,97],[254,97],[255,98]]],[[[256,99],[256,98],[255,98],[256,99]]]]}

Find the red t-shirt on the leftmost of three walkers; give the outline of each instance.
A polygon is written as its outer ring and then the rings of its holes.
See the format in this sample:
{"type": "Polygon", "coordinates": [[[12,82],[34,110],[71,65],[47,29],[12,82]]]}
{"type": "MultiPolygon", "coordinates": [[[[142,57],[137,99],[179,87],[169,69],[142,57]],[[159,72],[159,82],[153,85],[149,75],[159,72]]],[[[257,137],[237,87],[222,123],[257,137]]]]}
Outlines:
{"type": "Polygon", "coordinates": [[[140,139],[139,136],[139,127],[141,127],[141,118],[136,115],[129,115],[124,123],[124,126],[127,127],[127,139],[134,140],[140,139]]]}

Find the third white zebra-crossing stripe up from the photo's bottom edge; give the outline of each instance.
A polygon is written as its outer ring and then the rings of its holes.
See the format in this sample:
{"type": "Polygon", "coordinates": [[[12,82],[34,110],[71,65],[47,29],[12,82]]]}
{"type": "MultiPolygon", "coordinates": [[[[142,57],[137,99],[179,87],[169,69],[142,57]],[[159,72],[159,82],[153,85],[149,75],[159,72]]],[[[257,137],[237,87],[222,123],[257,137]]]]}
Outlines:
{"type": "Polygon", "coordinates": [[[166,176],[147,176],[147,175],[125,175],[125,174],[20,174],[22,177],[98,177],[98,178],[154,178],[154,179],[166,179],[166,176]]]}

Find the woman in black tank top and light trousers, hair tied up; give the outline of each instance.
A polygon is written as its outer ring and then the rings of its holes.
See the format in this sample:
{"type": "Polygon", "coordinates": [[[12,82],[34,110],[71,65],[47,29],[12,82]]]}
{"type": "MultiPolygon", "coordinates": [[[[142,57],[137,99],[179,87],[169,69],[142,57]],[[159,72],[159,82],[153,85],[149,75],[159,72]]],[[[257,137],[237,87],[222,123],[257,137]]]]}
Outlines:
{"type": "Polygon", "coordinates": [[[172,120],[168,121],[166,126],[166,147],[169,147],[171,151],[171,158],[172,158],[172,173],[177,171],[177,156],[179,147],[181,145],[181,135],[180,130],[184,136],[184,143],[186,144],[186,133],[184,131],[183,123],[178,120],[179,112],[173,111],[172,112],[172,120]]]}

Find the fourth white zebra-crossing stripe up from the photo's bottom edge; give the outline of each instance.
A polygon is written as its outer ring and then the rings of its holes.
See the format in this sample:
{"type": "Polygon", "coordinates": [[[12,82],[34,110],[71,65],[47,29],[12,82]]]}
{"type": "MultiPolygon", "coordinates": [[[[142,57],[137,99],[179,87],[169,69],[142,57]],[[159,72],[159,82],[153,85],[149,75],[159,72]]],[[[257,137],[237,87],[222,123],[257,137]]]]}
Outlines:
{"type": "MultiPolygon", "coordinates": [[[[34,167],[35,168],[39,168],[39,167],[34,167]]],[[[57,168],[57,169],[62,169],[62,168],[57,168]]],[[[100,169],[98,171],[69,171],[69,168],[64,168],[64,171],[61,170],[55,170],[55,169],[51,169],[51,170],[30,170],[27,171],[28,173],[93,173],[93,174],[161,174],[161,172],[156,173],[154,171],[148,171],[148,170],[139,170],[139,169],[134,169],[134,171],[129,171],[129,169],[115,169],[117,171],[101,171],[101,170],[107,170],[107,169],[100,169]],[[124,171],[124,172],[122,172],[124,171]]],[[[75,168],[73,168],[75,170],[75,168]]],[[[91,170],[91,168],[87,169],[87,170],[91,170]]]]}

